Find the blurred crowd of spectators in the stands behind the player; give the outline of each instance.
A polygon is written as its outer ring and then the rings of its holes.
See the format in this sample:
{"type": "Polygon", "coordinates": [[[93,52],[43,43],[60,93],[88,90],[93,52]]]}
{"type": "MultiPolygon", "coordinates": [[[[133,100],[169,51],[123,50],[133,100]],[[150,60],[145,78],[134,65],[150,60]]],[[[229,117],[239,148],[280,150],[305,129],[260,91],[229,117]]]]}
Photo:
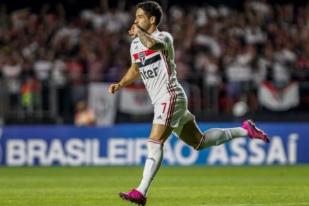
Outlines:
{"type": "MultiPolygon", "coordinates": [[[[12,102],[19,104],[16,96],[26,93],[27,85],[38,82],[41,87],[32,88],[39,93],[52,81],[65,115],[87,99],[89,82],[115,82],[124,75],[135,7],[119,1],[108,8],[107,2],[69,18],[61,4],[10,13],[1,5],[0,73],[12,102]]],[[[201,89],[205,111],[231,113],[244,88],[245,102],[256,111],[256,91],[264,80],[278,88],[309,81],[309,5],[263,0],[244,1],[242,10],[166,5],[160,28],[174,36],[177,76],[185,88],[201,89]]],[[[308,90],[302,95],[308,104],[308,90]]]]}

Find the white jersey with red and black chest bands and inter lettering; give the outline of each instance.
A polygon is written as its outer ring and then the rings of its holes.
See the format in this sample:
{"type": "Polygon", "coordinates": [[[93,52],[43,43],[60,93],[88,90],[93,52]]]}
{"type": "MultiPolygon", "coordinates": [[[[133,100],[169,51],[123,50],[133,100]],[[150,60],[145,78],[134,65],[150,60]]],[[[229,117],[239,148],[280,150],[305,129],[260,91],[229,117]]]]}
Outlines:
{"type": "Polygon", "coordinates": [[[152,104],[161,100],[170,100],[170,104],[185,100],[185,92],[176,79],[174,64],[174,47],[172,35],[156,30],[152,36],[164,41],[165,49],[153,51],[145,47],[139,38],[135,38],[130,47],[133,63],[139,67],[141,79],[150,95],[152,104]]]}

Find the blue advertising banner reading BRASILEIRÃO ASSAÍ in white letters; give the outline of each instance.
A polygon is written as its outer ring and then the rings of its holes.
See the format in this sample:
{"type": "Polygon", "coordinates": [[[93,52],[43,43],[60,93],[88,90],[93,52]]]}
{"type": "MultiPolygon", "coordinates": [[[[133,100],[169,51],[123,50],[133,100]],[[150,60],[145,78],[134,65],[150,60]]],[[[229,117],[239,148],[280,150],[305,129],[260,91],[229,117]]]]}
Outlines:
{"type": "MultiPolygon", "coordinates": [[[[309,123],[258,124],[271,137],[237,138],[201,152],[172,135],[164,144],[165,165],[294,165],[309,163],[309,123]]],[[[151,124],[109,127],[4,126],[0,164],[144,165],[151,124]]],[[[198,124],[201,130],[237,127],[236,123],[198,124]]]]}

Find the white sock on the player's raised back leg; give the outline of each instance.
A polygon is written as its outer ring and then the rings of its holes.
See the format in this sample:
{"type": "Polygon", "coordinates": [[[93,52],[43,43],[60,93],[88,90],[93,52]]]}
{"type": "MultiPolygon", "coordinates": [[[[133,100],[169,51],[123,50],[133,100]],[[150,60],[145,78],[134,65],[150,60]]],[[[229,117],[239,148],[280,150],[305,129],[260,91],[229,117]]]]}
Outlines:
{"type": "Polygon", "coordinates": [[[248,131],[241,127],[236,128],[212,128],[204,132],[204,136],[196,150],[204,150],[210,146],[224,144],[237,137],[248,137],[248,131]]]}

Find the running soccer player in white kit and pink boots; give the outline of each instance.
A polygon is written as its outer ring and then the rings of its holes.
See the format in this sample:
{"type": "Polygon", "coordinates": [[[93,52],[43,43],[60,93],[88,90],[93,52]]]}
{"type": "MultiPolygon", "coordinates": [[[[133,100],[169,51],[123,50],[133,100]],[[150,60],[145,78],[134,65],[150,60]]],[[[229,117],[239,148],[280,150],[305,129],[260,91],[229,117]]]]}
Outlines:
{"type": "Polygon", "coordinates": [[[267,135],[252,120],[244,121],[237,128],[212,128],[201,132],[194,115],[187,110],[187,97],[176,78],[173,38],[168,32],[157,29],[162,15],[162,9],[155,1],[137,4],[135,22],[128,31],[134,38],[130,47],[132,64],[122,80],[108,89],[113,94],[141,77],[155,106],[141,183],[136,190],[119,193],[121,198],[138,205],[146,205],[150,184],[163,159],[163,144],[171,133],[195,150],[218,146],[237,137],[249,136],[269,142],[267,135]]]}

